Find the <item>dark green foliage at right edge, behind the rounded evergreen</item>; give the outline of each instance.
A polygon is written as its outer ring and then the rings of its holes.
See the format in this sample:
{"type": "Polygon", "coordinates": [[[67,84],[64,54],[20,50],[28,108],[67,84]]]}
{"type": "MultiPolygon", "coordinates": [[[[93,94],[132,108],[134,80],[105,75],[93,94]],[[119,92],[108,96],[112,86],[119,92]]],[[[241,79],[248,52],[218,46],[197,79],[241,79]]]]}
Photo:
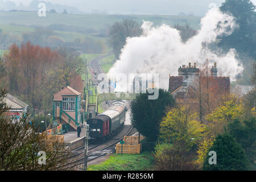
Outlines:
{"type": "Polygon", "coordinates": [[[256,142],[256,119],[252,117],[249,121],[239,121],[234,119],[228,125],[228,132],[236,139],[236,142],[241,144],[243,150],[250,160],[251,166],[255,166],[255,142],[256,142]]]}

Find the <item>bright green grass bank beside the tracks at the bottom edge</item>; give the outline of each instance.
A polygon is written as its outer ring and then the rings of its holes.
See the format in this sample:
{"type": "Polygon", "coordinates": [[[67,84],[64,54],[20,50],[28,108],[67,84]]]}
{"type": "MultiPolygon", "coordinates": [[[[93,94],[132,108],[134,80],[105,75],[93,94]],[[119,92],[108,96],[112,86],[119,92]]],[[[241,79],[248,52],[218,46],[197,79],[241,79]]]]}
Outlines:
{"type": "Polygon", "coordinates": [[[152,168],[154,156],[150,152],[142,154],[114,154],[105,162],[89,166],[89,171],[142,171],[152,168]]]}

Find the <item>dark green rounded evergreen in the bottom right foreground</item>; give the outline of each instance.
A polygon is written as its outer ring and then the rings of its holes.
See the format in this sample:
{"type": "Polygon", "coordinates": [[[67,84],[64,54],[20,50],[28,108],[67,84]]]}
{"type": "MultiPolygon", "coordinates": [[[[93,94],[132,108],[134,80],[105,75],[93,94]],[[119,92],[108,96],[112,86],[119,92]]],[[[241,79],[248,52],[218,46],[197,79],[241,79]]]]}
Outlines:
{"type": "Polygon", "coordinates": [[[233,137],[224,133],[218,135],[209,151],[217,154],[217,164],[209,164],[208,155],[204,160],[203,170],[207,171],[243,171],[248,170],[248,159],[240,144],[233,137]]]}

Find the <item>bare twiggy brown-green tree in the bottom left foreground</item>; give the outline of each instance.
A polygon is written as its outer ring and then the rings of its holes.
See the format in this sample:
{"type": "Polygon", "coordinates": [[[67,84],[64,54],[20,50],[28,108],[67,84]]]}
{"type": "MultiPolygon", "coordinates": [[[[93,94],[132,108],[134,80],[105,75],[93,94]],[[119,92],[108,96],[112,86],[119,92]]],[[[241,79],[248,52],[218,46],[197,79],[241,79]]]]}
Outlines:
{"type": "MultiPolygon", "coordinates": [[[[9,108],[3,102],[5,90],[0,91],[0,170],[46,171],[57,170],[67,160],[64,143],[48,140],[39,134],[34,122],[30,125],[25,115],[19,119],[6,115],[9,108]],[[46,154],[46,164],[39,164],[39,151],[46,154]]],[[[68,154],[68,153],[67,153],[68,154]]]]}

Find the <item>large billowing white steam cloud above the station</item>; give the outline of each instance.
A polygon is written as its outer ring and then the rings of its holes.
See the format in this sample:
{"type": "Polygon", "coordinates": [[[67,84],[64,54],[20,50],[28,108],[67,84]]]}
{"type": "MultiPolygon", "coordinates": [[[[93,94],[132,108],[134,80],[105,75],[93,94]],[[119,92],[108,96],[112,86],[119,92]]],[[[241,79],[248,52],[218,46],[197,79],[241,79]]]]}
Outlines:
{"type": "Polygon", "coordinates": [[[142,25],[143,34],[139,37],[127,38],[119,60],[110,69],[108,76],[118,73],[159,73],[159,87],[168,89],[169,73],[177,76],[177,69],[188,62],[202,65],[206,59],[211,64],[217,63],[218,73],[236,80],[243,67],[235,58],[236,52],[230,49],[226,55],[210,51],[207,47],[216,42],[217,36],[229,35],[236,24],[234,18],[222,14],[213,7],[201,19],[201,28],[197,35],[183,43],[179,31],[163,24],[152,27],[151,22],[142,25]]]}

